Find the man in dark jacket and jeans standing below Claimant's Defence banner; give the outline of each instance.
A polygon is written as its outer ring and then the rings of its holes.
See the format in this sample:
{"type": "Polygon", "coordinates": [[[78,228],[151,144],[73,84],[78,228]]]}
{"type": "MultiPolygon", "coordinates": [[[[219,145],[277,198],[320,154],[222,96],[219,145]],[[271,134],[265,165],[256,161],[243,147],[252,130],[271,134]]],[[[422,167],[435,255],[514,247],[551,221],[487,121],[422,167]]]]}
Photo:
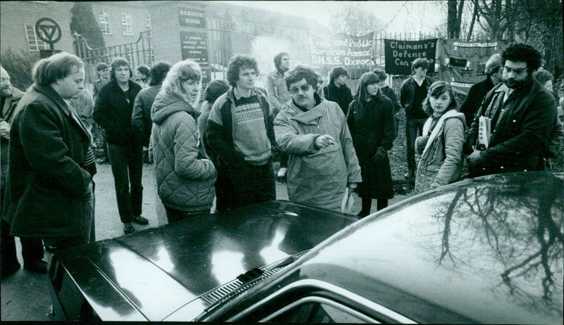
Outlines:
{"type": "Polygon", "coordinates": [[[400,87],[400,103],[405,107],[405,138],[407,140],[407,173],[405,178],[415,177],[415,138],[421,136],[423,125],[429,115],[423,110],[427,89],[434,79],[427,76],[429,61],[417,58],[411,64],[413,75],[403,81],[400,87]]]}

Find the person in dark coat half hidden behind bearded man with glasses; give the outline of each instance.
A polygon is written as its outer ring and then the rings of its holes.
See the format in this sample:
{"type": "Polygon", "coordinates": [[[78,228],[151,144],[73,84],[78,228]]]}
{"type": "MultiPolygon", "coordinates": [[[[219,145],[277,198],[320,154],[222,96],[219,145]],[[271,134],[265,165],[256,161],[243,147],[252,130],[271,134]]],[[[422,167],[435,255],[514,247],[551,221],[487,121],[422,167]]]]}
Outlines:
{"type": "Polygon", "coordinates": [[[462,106],[460,106],[460,113],[464,113],[466,118],[466,125],[472,125],[472,121],[474,120],[474,116],[476,116],[476,112],[478,108],[482,104],[484,100],[484,96],[490,91],[494,86],[503,81],[503,76],[501,75],[501,71],[503,68],[503,63],[501,62],[501,55],[499,53],[495,53],[493,56],[490,56],[488,61],[486,62],[486,79],[477,84],[473,84],[470,87],[470,91],[468,91],[468,95],[462,106]]]}

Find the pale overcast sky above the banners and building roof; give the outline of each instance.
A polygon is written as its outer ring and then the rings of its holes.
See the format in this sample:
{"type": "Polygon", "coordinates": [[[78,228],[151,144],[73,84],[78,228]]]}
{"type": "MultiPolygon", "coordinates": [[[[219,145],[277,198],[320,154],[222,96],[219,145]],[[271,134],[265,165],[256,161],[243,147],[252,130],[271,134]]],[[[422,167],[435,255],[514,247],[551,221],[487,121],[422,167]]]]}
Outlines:
{"type": "MultiPolygon", "coordinates": [[[[262,8],[317,20],[330,28],[331,13],[345,6],[358,6],[388,24],[388,32],[434,32],[446,21],[437,1],[228,1],[231,4],[262,8]]],[[[297,22],[298,23],[298,22],[297,22]]]]}

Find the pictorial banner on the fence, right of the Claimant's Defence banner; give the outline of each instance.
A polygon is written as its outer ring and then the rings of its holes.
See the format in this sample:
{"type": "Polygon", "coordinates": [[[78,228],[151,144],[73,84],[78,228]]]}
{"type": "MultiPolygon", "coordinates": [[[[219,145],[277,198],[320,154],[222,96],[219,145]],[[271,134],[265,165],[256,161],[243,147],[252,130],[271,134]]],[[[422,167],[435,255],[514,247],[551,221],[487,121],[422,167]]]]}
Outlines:
{"type": "Polygon", "coordinates": [[[468,94],[472,84],[486,79],[486,62],[494,53],[505,48],[503,41],[461,42],[441,39],[439,79],[450,82],[453,90],[468,94]]]}

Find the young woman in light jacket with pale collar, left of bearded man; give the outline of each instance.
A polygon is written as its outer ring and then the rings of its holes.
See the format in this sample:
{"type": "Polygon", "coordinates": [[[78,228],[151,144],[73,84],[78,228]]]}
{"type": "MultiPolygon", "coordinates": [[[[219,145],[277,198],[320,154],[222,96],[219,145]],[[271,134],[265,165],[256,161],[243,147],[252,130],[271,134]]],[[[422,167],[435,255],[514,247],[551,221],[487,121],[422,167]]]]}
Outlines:
{"type": "Polygon", "coordinates": [[[457,181],[465,164],[462,145],[466,120],[456,110],[452,88],[442,81],[431,84],[423,109],[429,120],[423,126],[423,135],[415,140],[415,152],[421,155],[415,193],[457,181]]]}

